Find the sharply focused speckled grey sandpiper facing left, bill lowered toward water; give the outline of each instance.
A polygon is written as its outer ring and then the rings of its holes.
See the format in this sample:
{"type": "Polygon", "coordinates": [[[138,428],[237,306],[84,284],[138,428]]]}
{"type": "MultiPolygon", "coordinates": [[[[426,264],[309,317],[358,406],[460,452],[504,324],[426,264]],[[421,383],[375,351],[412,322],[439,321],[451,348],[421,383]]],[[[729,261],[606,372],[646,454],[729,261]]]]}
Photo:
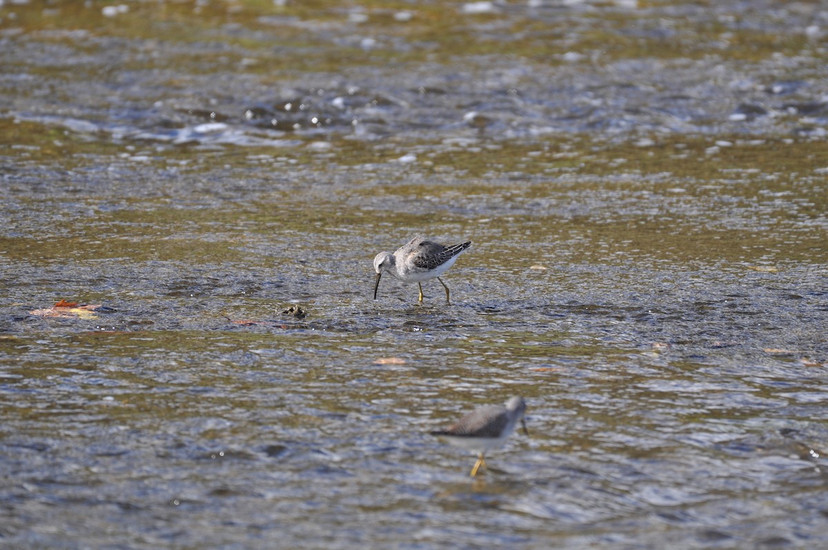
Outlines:
{"type": "Polygon", "coordinates": [[[373,268],[377,272],[377,282],[373,287],[373,299],[377,299],[379,277],[382,277],[383,273],[390,273],[402,282],[417,283],[417,286],[420,287],[420,299],[417,302],[422,302],[421,282],[436,277],[445,288],[445,302],[448,303],[449,287],[445,286],[445,282],[440,278],[440,275],[454,265],[460,253],[469,246],[471,246],[471,241],[455,244],[454,246],[443,246],[419,235],[409,243],[397,248],[395,253],[378,253],[376,258],[373,258],[373,268]]]}

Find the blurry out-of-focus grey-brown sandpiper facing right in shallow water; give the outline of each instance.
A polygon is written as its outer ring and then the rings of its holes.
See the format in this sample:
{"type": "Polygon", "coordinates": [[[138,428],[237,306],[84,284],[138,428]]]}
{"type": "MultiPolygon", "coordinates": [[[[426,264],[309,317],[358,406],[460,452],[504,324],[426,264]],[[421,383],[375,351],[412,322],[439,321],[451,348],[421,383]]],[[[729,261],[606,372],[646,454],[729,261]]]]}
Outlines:
{"type": "Polygon", "coordinates": [[[477,462],[471,469],[471,475],[474,477],[480,466],[486,466],[484,453],[503,445],[503,441],[506,441],[514,432],[518,420],[522,424],[523,432],[529,435],[523,413],[526,413],[526,402],[523,398],[514,397],[506,402],[505,407],[486,405],[476,408],[455,424],[445,430],[431,432],[431,435],[442,437],[452,445],[476,452],[477,462]]]}

